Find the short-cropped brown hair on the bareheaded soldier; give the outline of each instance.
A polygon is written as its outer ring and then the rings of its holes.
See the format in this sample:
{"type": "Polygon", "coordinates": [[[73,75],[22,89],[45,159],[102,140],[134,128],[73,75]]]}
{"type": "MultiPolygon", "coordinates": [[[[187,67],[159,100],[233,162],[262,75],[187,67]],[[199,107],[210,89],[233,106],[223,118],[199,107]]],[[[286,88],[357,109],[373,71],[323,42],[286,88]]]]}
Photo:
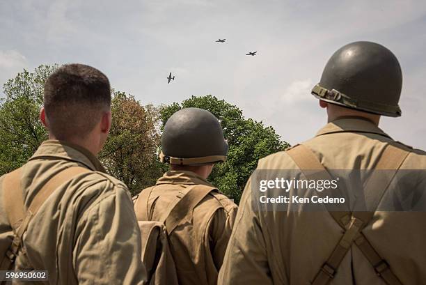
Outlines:
{"type": "Polygon", "coordinates": [[[100,70],[67,64],[47,78],[43,101],[49,131],[56,139],[84,137],[111,107],[111,87],[100,70]]]}

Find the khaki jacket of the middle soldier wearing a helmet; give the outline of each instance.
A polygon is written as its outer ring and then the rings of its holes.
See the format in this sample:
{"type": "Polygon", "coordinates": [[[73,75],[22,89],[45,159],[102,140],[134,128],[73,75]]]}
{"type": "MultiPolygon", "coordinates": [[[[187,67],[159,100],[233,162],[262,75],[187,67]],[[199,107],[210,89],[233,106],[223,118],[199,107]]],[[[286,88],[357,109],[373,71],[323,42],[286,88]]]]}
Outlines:
{"type": "MultiPolygon", "coordinates": [[[[159,221],[164,211],[196,184],[212,186],[191,171],[166,172],[150,195],[150,220],[159,221]]],[[[216,285],[236,215],[237,206],[230,199],[219,193],[208,194],[192,215],[180,222],[169,236],[179,284],[216,285]]]]}

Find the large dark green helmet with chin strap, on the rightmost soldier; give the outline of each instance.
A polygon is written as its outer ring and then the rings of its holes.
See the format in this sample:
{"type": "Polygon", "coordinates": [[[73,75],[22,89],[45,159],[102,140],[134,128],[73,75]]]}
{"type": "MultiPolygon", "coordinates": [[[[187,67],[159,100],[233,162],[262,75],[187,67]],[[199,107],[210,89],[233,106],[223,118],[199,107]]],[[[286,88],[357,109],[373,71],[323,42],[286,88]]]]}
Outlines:
{"type": "Polygon", "coordinates": [[[312,93],[320,100],[373,114],[401,116],[402,72],[383,45],[350,43],[327,62],[312,93]]]}

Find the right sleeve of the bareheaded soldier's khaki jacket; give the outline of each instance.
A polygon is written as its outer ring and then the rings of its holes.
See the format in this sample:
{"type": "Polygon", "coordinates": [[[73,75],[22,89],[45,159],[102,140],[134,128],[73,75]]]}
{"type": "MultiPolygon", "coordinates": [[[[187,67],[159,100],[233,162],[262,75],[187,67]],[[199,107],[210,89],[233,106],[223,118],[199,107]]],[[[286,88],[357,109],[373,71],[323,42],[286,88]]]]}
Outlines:
{"type": "Polygon", "coordinates": [[[141,233],[127,190],[118,187],[79,222],[74,270],[79,284],[143,284],[141,233]]]}

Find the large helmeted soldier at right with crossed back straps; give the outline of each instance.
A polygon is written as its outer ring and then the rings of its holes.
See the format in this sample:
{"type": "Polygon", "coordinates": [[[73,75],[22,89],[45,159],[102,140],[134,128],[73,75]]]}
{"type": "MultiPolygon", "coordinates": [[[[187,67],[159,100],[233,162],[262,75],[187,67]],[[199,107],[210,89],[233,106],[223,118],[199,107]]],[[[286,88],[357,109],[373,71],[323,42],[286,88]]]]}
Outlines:
{"type": "MultiPolygon", "coordinates": [[[[303,174],[307,169],[426,169],[425,152],[394,141],[378,127],[380,116],[401,115],[401,88],[400,64],[386,47],[370,42],[341,47],[312,91],[329,123],[313,139],[263,158],[258,169],[303,174]]],[[[425,283],[424,212],[259,210],[253,179],[239,204],[219,284],[425,283]]],[[[387,180],[375,182],[364,191],[365,203],[377,206],[392,189],[384,192],[387,180]]]]}

